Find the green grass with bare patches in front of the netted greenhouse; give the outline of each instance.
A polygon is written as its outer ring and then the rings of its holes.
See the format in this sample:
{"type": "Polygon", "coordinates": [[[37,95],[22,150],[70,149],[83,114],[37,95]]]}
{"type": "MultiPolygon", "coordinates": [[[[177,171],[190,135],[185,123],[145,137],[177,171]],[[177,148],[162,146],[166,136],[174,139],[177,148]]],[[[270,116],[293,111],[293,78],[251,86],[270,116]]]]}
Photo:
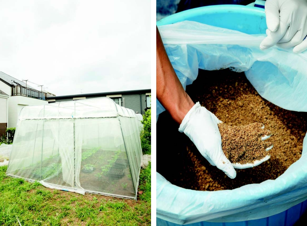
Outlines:
{"type": "Polygon", "coordinates": [[[52,190],[6,176],[6,169],[0,167],[0,225],[151,225],[151,164],[141,169],[137,201],[52,190]]]}

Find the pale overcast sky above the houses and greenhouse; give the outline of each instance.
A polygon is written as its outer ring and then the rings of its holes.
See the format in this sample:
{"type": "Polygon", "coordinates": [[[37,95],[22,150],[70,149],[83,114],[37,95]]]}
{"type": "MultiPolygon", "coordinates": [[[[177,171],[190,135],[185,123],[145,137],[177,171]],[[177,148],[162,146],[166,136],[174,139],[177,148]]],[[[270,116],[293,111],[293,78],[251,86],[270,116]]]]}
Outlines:
{"type": "Polygon", "coordinates": [[[150,5],[0,1],[0,71],[57,96],[150,89],[150,5]]]}

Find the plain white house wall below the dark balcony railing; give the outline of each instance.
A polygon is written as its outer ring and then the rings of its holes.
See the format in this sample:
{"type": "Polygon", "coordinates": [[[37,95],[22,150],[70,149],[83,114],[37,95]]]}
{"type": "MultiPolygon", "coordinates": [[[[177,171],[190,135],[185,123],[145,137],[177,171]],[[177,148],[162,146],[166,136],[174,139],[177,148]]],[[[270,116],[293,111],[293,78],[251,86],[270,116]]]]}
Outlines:
{"type": "Polygon", "coordinates": [[[11,96],[9,99],[8,128],[16,127],[18,115],[24,106],[39,105],[39,104],[48,104],[48,101],[39,100],[35,98],[30,98],[30,97],[24,97],[24,96],[11,96]]]}

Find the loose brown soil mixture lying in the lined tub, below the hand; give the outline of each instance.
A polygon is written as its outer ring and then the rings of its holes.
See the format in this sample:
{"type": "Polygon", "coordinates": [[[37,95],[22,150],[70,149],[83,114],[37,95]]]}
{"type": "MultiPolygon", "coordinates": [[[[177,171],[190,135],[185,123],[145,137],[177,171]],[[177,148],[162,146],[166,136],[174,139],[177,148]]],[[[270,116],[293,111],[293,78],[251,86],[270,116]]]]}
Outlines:
{"type": "Polygon", "coordinates": [[[274,147],[269,151],[269,160],[257,167],[236,169],[236,178],[230,179],[211,166],[192,141],[178,131],[179,125],[163,112],[157,121],[157,172],[172,184],[192,190],[235,189],[276,179],[301,157],[307,113],[282,109],[266,101],[244,73],[200,70],[186,91],[194,102],[199,101],[228,126],[263,123],[272,132],[266,141],[274,147]]]}

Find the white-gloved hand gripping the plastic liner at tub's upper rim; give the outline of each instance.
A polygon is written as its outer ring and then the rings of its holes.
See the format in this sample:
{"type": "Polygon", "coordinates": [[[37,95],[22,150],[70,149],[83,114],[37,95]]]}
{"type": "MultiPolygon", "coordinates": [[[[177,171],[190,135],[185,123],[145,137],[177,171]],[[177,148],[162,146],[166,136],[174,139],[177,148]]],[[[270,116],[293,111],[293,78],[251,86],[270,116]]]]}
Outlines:
{"type": "Polygon", "coordinates": [[[260,49],[277,44],[300,53],[307,49],[307,0],[266,0],[266,38],[260,49]],[[304,40],[305,39],[305,40],[304,40]]]}

